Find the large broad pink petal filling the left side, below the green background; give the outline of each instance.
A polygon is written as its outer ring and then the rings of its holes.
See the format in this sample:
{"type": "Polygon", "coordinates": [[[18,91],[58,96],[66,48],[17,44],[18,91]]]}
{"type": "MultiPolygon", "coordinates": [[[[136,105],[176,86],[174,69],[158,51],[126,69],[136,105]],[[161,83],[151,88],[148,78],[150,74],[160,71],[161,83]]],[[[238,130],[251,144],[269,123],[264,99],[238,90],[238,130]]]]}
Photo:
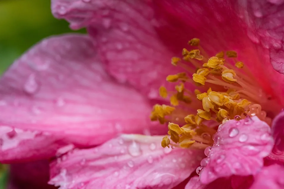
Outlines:
{"type": "Polygon", "coordinates": [[[118,133],[142,133],[153,127],[151,109],[104,72],[89,37],[51,37],[0,80],[0,160],[42,159],[69,143],[90,146],[118,133]]]}

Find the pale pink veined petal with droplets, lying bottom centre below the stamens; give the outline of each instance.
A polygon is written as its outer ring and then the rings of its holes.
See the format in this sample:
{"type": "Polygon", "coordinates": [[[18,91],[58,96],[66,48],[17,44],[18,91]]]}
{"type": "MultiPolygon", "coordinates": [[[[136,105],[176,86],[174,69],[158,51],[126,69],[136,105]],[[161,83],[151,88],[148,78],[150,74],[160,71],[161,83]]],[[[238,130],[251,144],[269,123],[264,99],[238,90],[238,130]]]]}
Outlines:
{"type": "Polygon", "coordinates": [[[162,148],[161,136],[122,135],[51,164],[50,184],[66,188],[170,189],[195,171],[202,150],[162,148]]]}

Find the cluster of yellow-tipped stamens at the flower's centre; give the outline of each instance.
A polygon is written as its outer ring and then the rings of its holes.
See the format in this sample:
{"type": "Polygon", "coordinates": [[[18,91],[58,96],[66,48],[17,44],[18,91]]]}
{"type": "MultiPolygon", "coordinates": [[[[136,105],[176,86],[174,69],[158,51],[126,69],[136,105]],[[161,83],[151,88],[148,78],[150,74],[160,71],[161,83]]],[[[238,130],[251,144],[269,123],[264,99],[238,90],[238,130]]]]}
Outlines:
{"type": "Polygon", "coordinates": [[[273,101],[255,82],[246,65],[237,59],[237,52],[222,51],[209,57],[199,39],[193,38],[188,44],[196,49],[184,48],[184,61],[172,57],[172,65],[182,67],[185,72],[166,78],[170,83],[178,83],[175,91],[159,88],[160,96],[169,98],[172,106],[156,104],[151,112],[152,121],[169,123],[169,136],[162,139],[162,147],[205,149],[212,145],[217,127],[230,119],[258,116],[271,123],[263,107],[269,107],[273,101]],[[191,73],[192,77],[188,76],[191,73]],[[188,83],[196,86],[194,91],[186,87],[188,83]]]}

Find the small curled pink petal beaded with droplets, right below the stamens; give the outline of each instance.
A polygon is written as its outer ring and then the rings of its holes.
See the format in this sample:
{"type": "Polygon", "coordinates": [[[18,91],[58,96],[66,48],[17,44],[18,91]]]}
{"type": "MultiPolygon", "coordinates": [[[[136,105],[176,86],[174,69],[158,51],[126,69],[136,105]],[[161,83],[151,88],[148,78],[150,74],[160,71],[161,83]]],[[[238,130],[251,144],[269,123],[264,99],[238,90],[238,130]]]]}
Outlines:
{"type": "Polygon", "coordinates": [[[231,175],[254,175],[262,168],[263,158],[272,147],[270,127],[257,116],[227,121],[219,126],[200,180],[208,184],[231,175]]]}

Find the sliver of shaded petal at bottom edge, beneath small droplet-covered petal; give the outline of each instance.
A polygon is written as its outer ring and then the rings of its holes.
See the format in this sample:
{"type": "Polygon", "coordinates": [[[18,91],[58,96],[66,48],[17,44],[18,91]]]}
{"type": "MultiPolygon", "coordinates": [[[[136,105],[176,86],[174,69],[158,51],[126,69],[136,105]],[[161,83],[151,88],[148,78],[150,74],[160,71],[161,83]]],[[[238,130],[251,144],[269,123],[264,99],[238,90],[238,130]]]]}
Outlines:
{"type": "Polygon", "coordinates": [[[229,179],[218,179],[214,182],[205,185],[199,180],[199,177],[195,176],[189,180],[185,189],[233,189],[229,179]]]}

